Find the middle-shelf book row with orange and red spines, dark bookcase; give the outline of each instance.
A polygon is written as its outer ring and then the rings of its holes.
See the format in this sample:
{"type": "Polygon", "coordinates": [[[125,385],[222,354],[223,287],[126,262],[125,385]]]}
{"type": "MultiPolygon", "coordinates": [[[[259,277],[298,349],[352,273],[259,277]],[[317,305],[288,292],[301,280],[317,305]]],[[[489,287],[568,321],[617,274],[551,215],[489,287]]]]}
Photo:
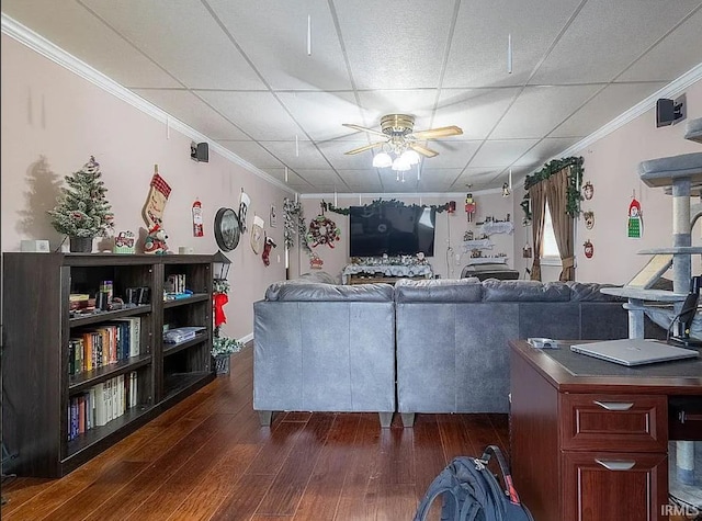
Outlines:
{"type": "Polygon", "coordinates": [[[117,363],[140,352],[141,319],[115,318],[75,332],[68,341],[68,374],[76,375],[117,363]]]}

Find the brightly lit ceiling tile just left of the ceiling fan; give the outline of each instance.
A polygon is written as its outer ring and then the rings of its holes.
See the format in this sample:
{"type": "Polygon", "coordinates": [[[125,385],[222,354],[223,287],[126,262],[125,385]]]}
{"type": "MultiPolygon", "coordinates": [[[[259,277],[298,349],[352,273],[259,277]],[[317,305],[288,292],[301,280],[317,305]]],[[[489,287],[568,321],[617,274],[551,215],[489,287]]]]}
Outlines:
{"type": "Polygon", "coordinates": [[[343,123],[361,116],[353,92],[281,92],[278,97],[313,140],[348,135],[343,123]]]}

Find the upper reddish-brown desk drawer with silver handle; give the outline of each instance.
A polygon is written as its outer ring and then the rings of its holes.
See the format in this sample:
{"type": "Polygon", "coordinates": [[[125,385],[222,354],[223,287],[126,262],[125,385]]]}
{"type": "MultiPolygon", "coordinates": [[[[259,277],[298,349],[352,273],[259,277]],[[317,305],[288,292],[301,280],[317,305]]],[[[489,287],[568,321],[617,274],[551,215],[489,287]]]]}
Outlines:
{"type": "Polygon", "coordinates": [[[563,394],[559,400],[563,450],[668,450],[666,396],[563,394]]]}

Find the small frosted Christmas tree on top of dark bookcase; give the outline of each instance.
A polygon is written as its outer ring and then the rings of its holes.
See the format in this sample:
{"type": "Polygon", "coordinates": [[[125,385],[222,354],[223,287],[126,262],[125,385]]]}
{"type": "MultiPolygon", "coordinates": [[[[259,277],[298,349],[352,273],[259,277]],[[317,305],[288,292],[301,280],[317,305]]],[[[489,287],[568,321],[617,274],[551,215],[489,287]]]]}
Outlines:
{"type": "Polygon", "coordinates": [[[105,197],[107,189],[100,179],[100,163],[90,156],[83,168],[64,179],[68,188],[61,188],[58,205],[48,212],[52,225],[69,237],[104,237],[113,228],[112,206],[105,197]]]}

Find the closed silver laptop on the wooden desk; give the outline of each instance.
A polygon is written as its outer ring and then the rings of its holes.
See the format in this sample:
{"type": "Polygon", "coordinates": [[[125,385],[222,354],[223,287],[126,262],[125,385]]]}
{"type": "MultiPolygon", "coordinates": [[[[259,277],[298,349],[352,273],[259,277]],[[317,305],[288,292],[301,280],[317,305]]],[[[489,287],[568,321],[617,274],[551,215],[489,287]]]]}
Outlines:
{"type": "Polygon", "coordinates": [[[643,338],[578,343],[570,346],[570,350],[627,366],[691,359],[700,355],[698,351],[692,349],[676,348],[643,338]]]}

